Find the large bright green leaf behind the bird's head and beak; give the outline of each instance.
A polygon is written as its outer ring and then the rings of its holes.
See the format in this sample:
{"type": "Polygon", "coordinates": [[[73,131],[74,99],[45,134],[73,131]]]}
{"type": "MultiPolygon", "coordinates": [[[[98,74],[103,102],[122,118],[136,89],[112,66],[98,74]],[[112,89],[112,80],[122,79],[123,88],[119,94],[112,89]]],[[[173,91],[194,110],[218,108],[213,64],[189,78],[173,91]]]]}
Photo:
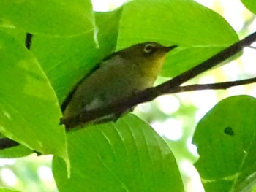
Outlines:
{"type": "Polygon", "coordinates": [[[162,70],[163,76],[173,77],[237,40],[225,19],[195,1],[137,0],[124,5],[118,48],[146,41],[178,45],[162,70]]]}

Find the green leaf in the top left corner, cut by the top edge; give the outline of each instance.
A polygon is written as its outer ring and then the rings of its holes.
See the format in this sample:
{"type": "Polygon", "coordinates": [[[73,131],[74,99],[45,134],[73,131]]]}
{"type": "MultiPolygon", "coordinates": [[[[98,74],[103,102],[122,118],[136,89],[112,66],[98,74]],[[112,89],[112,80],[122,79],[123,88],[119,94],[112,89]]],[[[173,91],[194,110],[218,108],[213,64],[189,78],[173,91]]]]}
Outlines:
{"type": "Polygon", "coordinates": [[[2,0],[1,23],[32,34],[67,37],[94,31],[91,1],[9,1],[2,0]]]}

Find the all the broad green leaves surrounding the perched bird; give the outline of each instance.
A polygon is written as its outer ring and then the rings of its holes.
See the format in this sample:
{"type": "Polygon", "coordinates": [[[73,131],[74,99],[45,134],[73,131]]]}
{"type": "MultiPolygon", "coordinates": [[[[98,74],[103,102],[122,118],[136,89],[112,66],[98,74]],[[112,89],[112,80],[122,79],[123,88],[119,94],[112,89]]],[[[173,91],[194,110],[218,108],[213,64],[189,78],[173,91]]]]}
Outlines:
{"type": "MultiPolygon", "coordinates": [[[[129,114],[65,134],[59,105],[105,55],[137,42],[178,45],[162,76],[187,71],[238,41],[224,18],[192,0],[137,0],[113,12],[93,12],[90,1],[4,0],[0,16],[0,131],[21,144],[1,158],[53,154],[59,191],[184,191],[179,159],[146,122],[129,114]]],[[[253,188],[255,102],[225,99],[197,124],[195,166],[206,191],[253,188]]]]}

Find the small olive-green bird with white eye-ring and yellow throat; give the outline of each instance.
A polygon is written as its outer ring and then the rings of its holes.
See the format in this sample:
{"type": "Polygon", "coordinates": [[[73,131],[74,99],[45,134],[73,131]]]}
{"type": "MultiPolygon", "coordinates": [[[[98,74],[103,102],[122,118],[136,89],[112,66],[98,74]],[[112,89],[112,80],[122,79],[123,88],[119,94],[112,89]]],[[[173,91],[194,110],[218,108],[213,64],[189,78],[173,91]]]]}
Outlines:
{"type": "Polygon", "coordinates": [[[102,107],[116,99],[152,87],[166,54],[175,47],[177,46],[165,47],[157,42],[144,42],[109,55],[102,61],[99,69],[83,79],[69,96],[69,101],[62,107],[64,113],[61,122],[68,126],[67,119],[82,111],[102,107]]]}

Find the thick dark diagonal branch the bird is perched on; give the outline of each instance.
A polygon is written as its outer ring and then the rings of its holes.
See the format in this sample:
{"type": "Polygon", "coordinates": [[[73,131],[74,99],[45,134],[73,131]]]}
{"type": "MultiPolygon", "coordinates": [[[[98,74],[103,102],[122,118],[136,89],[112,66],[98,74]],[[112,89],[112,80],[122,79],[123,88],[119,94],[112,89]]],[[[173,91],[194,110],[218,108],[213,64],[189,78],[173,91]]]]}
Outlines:
{"type": "MultiPolygon", "coordinates": [[[[166,93],[171,93],[172,90],[177,91],[178,89],[181,89],[180,85],[182,83],[187,82],[188,80],[191,80],[193,77],[203,72],[206,72],[208,69],[211,69],[214,66],[217,66],[217,64],[221,63],[222,61],[225,61],[227,58],[230,58],[233,55],[236,55],[237,53],[239,53],[241,50],[243,50],[244,47],[249,47],[252,44],[252,42],[255,42],[255,41],[256,41],[256,32],[236,42],[230,47],[227,47],[225,50],[220,51],[219,53],[212,56],[211,58],[208,58],[206,61],[203,61],[201,64],[198,64],[192,69],[189,69],[187,72],[179,74],[178,76],[174,77],[172,80],[169,80],[163,83],[162,85],[159,85],[154,88],[148,88],[145,91],[141,91],[125,99],[118,99],[104,107],[99,107],[97,109],[89,110],[89,111],[83,111],[79,115],[76,115],[71,118],[67,118],[65,120],[61,120],[61,124],[64,124],[67,130],[69,130],[72,127],[83,125],[84,123],[88,123],[97,118],[102,118],[108,114],[124,112],[134,107],[137,104],[140,104],[146,101],[151,101],[155,99],[157,96],[160,96],[166,93]]],[[[198,88],[198,85],[193,85],[193,86],[197,86],[198,88]]],[[[211,86],[214,87],[216,85],[211,85],[211,86]]],[[[173,93],[177,93],[177,92],[173,92],[173,93]]]]}

